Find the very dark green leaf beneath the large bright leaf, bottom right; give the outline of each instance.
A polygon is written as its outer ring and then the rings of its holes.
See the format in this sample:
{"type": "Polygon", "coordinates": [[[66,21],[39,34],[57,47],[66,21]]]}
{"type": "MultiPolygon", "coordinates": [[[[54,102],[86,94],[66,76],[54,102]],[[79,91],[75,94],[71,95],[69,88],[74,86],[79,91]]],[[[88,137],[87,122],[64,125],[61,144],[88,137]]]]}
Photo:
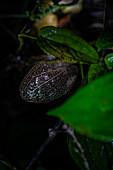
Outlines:
{"type": "MultiPolygon", "coordinates": [[[[84,156],[90,170],[109,170],[113,167],[113,147],[112,144],[93,140],[75,132],[75,136],[84,150],[84,156]]],[[[69,139],[69,150],[74,161],[81,170],[86,170],[84,160],[80,150],[73,139],[69,139]]]]}

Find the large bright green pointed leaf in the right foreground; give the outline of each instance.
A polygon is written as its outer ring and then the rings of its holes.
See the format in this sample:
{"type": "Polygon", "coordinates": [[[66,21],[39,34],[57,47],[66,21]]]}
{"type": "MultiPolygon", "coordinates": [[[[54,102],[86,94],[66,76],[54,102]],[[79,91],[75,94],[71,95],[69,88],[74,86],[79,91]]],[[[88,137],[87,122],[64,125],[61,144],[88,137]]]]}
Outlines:
{"type": "Polygon", "coordinates": [[[113,141],[113,73],[81,88],[48,115],[59,117],[81,134],[113,141]]]}

